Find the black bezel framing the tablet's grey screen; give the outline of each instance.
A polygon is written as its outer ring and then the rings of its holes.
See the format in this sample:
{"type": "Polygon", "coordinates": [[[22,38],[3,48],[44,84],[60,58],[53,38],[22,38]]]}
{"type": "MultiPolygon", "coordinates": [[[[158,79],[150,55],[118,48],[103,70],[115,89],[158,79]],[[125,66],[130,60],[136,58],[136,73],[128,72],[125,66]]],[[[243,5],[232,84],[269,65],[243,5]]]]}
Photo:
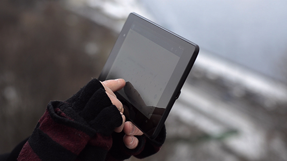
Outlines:
{"type": "MultiPolygon", "coordinates": [[[[109,70],[112,67],[112,64],[114,63],[117,54],[122,46],[122,44],[125,41],[126,38],[126,34],[127,32],[131,29],[131,26],[133,23],[139,23],[141,25],[143,25],[144,27],[146,27],[147,29],[150,29],[151,31],[160,34],[161,36],[163,36],[164,39],[167,39],[169,41],[173,41],[174,43],[179,44],[180,46],[182,46],[184,48],[183,53],[181,54],[181,57],[179,59],[179,62],[175,68],[175,70],[172,73],[172,76],[170,78],[170,80],[168,81],[166,88],[164,89],[163,95],[161,96],[162,99],[160,99],[160,101],[162,101],[162,104],[166,104],[165,106],[165,110],[164,113],[161,116],[160,121],[158,122],[158,125],[155,127],[155,129],[152,132],[148,132],[147,129],[144,129],[143,125],[142,127],[140,125],[138,125],[138,121],[135,120],[136,118],[129,118],[128,115],[126,115],[127,119],[129,119],[130,121],[132,121],[139,129],[141,129],[143,131],[143,133],[150,139],[155,139],[156,136],[159,134],[162,126],[164,125],[164,122],[173,106],[173,104],[175,103],[177,97],[179,97],[179,93],[180,93],[180,89],[183,86],[196,58],[197,58],[197,54],[199,51],[199,47],[194,44],[193,42],[186,40],[185,38],[177,35],[174,32],[168,31],[166,29],[164,29],[163,27],[157,25],[156,23],[140,16],[137,15],[135,13],[131,13],[127,20],[126,23],[114,45],[114,47],[112,48],[110,55],[108,57],[108,60],[102,70],[102,73],[99,76],[99,80],[100,81],[105,81],[109,70]],[[174,85],[174,83],[177,83],[177,85],[174,85]],[[165,96],[168,95],[168,96],[165,96]],[[166,101],[165,98],[168,97],[169,100],[166,101]]],[[[161,37],[162,38],[162,37],[161,37]]],[[[116,79],[116,78],[115,78],[116,79]]],[[[118,99],[120,99],[121,101],[126,101],[126,99],[124,97],[122,97],[119,93],[115,92],[115,94],[117,95],[118,99]]],[[[132,106],[130,103],[125,102],[125,105],[127,106],[132,106]]],[[[135,107],[133,107],[135,108],[135,107]]],[[[136,109],[136,108],[135,108],[136,109]]],[[[137,118],[141,118],[141,117],[137,117],[137,118]]],[[[148,118],[146,118],[145,121],[141,121],[141,122],[145,122],[147,123],[147,121],[151,121],[148,118]]],[[[141,123],[142,124],[142,123],[141,123]]]]}

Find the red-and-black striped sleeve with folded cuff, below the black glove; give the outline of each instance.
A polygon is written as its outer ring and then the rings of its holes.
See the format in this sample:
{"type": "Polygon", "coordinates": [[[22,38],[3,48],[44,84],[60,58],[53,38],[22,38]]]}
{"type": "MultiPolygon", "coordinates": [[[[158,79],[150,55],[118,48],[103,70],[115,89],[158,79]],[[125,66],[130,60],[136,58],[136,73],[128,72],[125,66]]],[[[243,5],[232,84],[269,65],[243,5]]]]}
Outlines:
{"type": "Polygon", "coordinates": [[[67,117],[60,109],[54,109],[56,103],[49,103],[23,146],[18,161],[74,161],[95,133],[88,126],[67,117]]]}

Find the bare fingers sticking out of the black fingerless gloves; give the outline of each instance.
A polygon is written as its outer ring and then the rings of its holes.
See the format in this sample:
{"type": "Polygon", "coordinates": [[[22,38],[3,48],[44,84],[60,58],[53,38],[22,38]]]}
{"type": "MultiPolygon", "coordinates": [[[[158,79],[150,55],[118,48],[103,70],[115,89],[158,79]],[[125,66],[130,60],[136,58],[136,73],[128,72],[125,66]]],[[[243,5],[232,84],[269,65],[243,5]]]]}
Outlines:
{"type": "Polygon", "coordinates": [[[105,87],[106,93],[108,94],[108,97],[110,98],[112,104],[119,109],[123,117],[123,124],[120,127],[116,128],[114,131],[121,132],[122,130],[124,130],[126,135],[124,136],[123,141],[126,147],[129,149],[136,148],[139,144],[139,140],[135,137],[135,135],[143,135],[143,132],[131,122],[126,122],[126,117],[123,114],[123,104],[117,99],[116,95],[114,94],[115,91],[118,91],[125,86],[125,80],[108,80],[103,81],[102,84],[105,87]]]}

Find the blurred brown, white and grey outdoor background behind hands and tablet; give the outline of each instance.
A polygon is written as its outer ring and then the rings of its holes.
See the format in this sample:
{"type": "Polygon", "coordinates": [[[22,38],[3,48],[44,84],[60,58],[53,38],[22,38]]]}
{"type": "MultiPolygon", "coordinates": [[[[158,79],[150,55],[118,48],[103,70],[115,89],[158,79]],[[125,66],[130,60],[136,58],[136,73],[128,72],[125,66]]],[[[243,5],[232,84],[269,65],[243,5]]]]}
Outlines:
{"type": "Polygon", "coordinates": [[[200,47],[143,161],[287,161],[287,0],[1,0],[0,153],[99,76],[131,12],[200,47]]]}

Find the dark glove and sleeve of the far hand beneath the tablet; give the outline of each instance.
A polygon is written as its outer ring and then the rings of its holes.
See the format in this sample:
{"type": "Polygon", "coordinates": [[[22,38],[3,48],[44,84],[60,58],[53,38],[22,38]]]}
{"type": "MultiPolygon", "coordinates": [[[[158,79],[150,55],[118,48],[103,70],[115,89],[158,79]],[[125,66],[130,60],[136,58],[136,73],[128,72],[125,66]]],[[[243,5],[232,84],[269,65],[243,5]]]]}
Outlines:
{"type": "Polygon", "coordinates": [[[108,151],[106,161],[124,161],[131,156],[143,159],[157,153],[163,145],[166,137],[165,126],[161,129],[160,134],[155,140],[148,139],[145,135],[136,136],[139,140],[139,145],[135,149],[128,149],[123,142],[125,133],[113,133],[113,144],[108,151]]]}

